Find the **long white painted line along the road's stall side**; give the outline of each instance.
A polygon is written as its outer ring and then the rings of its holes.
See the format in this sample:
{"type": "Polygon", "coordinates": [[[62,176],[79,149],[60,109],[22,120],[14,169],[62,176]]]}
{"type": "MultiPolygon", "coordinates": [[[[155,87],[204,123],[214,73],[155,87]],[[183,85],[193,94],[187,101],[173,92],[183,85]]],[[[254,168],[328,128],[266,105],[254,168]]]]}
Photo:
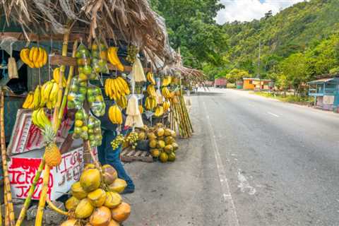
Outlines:
{"type": "Polygon", "coordinates": [[[227,203],[227,218],[228,218],[228,225],[232,226],[239,226],[239,220],[237,216],[237,210],[234,206],[234,201],[230,192],[230,185],[228,184],[224,165],[222,165],[222,160],[220,157],[220,152],[218,148],[217,141],[215,141],[215,136],[213,132],[212,125],[210,124],[210,117],[208,116],[208,112],[206,109],[206,103],[203,102],[204,113],[206,115],[207,124],[208,124],[208,131],[210,133],[210,140],[212,141],[212,148],[214,151],[215,162],[217,163],[218,174],[220,178],[220,184],[222,189],[222,196],[224,197],[224,201],[227,203]]]}

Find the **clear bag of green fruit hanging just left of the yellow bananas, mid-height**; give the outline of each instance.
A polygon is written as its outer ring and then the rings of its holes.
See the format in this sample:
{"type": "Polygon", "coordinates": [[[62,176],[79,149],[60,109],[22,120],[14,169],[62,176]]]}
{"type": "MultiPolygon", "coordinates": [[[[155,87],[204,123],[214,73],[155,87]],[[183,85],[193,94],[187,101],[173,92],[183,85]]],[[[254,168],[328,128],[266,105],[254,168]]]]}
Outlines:
{"type": "Polygon", "coordinates": [[[88,85],[87,101],[96,117],[101,117],[105,114],[106,105],[99,87],[92,84],[88,85]]]}

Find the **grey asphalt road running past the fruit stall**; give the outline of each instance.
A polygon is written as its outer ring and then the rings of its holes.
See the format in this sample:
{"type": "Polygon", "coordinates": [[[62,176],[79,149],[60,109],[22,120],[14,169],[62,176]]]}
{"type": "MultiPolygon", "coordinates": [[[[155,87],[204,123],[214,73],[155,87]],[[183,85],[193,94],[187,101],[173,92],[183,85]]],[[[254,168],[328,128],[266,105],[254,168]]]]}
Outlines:
{"type": "Polygon", "coordinates": [[[126,165],[127,225],[339,225],[339,114],[240,90],[191,98],[177,161],[126,165]]]}

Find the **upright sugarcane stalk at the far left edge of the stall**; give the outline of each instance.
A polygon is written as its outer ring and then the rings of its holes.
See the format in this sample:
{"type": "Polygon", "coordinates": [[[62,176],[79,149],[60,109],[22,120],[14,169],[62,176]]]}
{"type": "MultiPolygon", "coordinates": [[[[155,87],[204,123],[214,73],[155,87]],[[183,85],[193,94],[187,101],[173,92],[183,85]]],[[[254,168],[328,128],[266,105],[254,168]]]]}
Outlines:
{"type": "MultiPolygon", "coordinates": [[[[15,225],[14,209],[12,202],[11,194],[11,184],[9,181],[8,168],[7,168],[7,156],[6,156],[6,141],[5,141],[5,123],[4,123],[4,90],[0,90],[1,100],[0,100],[0,126],[1,126],[1,157],[2,157],[2,169],[4,171],[4,196],[6,196],[6,215],[8,215],[9,224],[11,226],[15,225]]],[[[6,219],[5,219],[6,220],[6,219]]],[[[5,221],[6,222],[6,221],[5,221]]]]}

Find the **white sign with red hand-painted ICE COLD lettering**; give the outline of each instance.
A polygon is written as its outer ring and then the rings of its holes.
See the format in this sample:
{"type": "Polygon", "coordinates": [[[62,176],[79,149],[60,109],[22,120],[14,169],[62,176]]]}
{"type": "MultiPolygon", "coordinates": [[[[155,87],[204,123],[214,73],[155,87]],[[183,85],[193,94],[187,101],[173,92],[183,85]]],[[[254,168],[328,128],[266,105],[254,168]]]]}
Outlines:
{"type": "MultiPolygon", "coordinates": [[[[26,198],[30,185],[40,165],[40,158],[29,157],[30,153],[15,155],[8,162],[8,173],[11,181],[13,198],[26,198]],[[27,157],[28,156],[28,157],[27,157]]],[[[41,150],[42,156],[42,150],[41,150]]],[[[80,179],[83,170],[83,147],[76,148],[62,155],[61,164],[53,167],[49,175],[48,195],[55,200],[66,194],[71,185],[80,179]]],[[[40,177],[35,188],[32,199],[38,200],[42,189],[42,177],[40,177]]]]}

